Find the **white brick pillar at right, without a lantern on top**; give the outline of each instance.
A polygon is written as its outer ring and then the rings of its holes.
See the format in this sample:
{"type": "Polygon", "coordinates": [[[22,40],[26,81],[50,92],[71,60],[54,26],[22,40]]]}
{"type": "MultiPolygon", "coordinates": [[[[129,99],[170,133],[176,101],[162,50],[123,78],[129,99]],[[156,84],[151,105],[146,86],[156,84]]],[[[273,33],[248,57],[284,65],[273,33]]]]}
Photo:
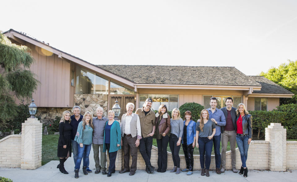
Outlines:
{"type": "Polygon", "coordinates": [[[286,129],[281,123],[270,123],[265,128],[265,140],[269,141],[269,170],[286,171],[286,129]]]}

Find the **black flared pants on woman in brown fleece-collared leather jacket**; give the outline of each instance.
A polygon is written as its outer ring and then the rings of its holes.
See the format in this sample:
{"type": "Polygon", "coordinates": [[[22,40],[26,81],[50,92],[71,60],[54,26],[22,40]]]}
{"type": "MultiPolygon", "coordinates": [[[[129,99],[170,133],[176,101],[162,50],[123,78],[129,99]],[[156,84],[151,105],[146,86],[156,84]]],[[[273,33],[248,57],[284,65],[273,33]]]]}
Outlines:
{"type": "Polygon", "coordinates": [[[158,147],[158,172],[166,172],[167,169],[167,146],[169,142],[169,136],[162,136],[161,139],[157,139],[158,147]]]}

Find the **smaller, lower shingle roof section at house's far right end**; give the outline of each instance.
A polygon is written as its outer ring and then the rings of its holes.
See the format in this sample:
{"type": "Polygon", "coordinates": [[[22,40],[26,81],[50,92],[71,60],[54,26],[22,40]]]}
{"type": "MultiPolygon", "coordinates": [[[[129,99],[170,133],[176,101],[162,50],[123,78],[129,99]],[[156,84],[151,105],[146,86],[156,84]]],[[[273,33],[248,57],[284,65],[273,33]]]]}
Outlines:
{"type": "Polygon", "coordinates": [[[252,80],[261,84],[262,88],[259,91],[253,91],[253,93],[258,94],[293,94],[292,92],[286,90],[285,88],[279,86],[273,81],[263,77],[263,76],[249,76],[252,80]]]}

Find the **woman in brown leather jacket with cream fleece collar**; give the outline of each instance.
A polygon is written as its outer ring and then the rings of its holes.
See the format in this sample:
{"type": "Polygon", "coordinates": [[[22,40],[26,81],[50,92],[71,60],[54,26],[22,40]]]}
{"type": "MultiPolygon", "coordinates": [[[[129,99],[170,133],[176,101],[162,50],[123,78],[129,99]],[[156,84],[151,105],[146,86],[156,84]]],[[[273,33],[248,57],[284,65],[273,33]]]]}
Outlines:
{"type": "Polygon", "coordinates": [[[158,170],[166,172],[167,169],[167,146],[170,136],[170,116],[167,114],[167,106],[161,104],[156,113],[156,138],[158,147],[158,170]]]}

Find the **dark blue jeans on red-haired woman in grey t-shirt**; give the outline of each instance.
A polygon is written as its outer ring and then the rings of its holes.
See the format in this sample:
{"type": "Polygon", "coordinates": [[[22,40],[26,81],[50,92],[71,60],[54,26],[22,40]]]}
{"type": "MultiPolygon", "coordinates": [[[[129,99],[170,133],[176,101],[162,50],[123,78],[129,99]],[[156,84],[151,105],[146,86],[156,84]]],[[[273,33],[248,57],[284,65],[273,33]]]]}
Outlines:
{"type": "Polygon", "coordinates": [[[209,169],[211,160],[211,151],[213,150],[213,139],[209,140],[207,137],[198,138],[199,153],[200,153],[200,166],[204,168],[204,155],[205,155],[205,169],[209,169]]]}

